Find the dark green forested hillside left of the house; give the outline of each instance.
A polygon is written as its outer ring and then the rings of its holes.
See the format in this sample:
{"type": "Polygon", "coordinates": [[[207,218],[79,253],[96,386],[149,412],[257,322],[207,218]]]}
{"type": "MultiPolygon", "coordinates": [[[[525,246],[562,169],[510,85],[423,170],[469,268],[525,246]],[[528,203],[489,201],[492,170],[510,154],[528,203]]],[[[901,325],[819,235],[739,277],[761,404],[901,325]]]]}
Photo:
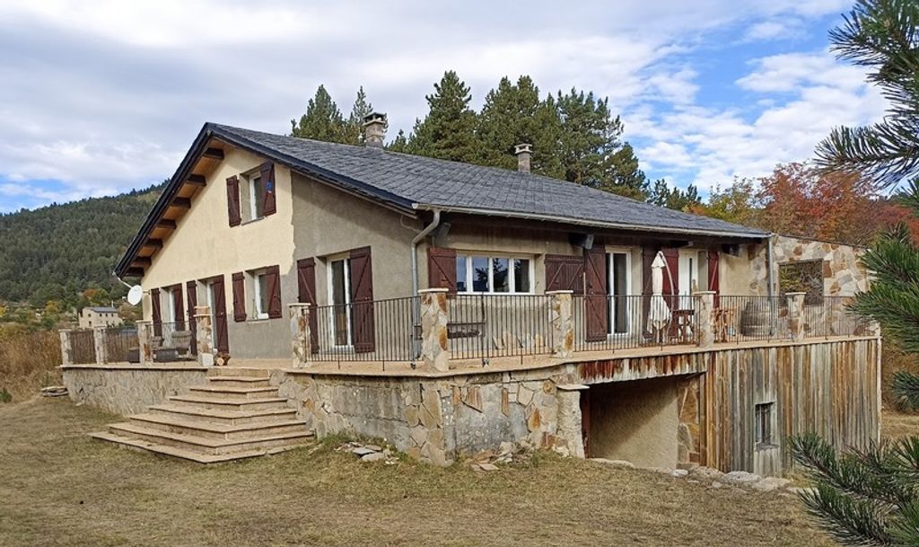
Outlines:
{"type": "Polygon", "coordinates": [[[112,269],[162,188],[0,215],[0,302],[74,305],[86,289],[119,298],[112,269]]]}

